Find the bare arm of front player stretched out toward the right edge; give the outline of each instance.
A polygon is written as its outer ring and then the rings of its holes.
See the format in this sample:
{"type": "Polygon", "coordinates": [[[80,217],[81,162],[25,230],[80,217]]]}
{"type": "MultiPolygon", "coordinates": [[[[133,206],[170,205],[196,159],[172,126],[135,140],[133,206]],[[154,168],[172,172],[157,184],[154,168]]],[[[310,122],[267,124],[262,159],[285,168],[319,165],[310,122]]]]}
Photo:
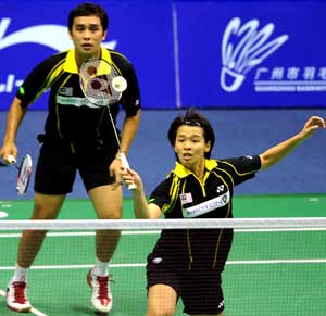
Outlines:
{"type": "Polygon", "coordinates": [[[280,160],[283,160],[286,155],[292,152],[301,142],[305,139],[310,138],[318,128],[325,128],[325,121],[318,116],[310,117],[304,124],[302,130],[294,135],[293,137],[269,148],[265,152],[263,152],[260,157],[262,162],[261,169],[266,169],[280,160]]]}

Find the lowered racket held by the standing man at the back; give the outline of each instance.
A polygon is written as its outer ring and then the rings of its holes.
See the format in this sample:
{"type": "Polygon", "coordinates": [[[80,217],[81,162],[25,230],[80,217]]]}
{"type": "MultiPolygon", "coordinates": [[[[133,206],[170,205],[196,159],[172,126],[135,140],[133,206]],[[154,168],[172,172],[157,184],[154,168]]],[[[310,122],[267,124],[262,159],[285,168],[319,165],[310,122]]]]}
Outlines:
{"type": "Polygon", "coordinates": [[[18,170],[16,190],[18,195],[26,193],[32,177],[33,162],[29,154],[26,154],[18,165],[13,155],[8,156],[9,164],[0,163],[0,166],[15,166],[18,170]]]}

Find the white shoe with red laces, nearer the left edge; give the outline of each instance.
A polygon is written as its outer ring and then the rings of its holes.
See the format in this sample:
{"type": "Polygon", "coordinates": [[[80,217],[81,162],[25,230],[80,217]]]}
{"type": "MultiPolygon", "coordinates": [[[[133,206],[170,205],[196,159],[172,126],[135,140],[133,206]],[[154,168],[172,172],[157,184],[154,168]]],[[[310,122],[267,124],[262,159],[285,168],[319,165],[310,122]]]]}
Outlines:
{"type": "Polygon", "coordinates": [[[26,282],[20,281],[10,281],[7,288],[7,306],[18,313],[28,313],[30,312],[30,303],[26,295],[26,282]]]}

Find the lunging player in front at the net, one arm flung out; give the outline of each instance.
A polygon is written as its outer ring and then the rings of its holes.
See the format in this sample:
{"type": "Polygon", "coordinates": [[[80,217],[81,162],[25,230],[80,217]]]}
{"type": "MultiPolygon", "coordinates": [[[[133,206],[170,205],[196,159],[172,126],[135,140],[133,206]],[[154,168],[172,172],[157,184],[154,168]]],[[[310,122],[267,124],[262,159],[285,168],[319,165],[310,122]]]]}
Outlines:
{"type": "MultiPolygon", "coordinates": [[[[176,117],[168,140],[176,153],[176,167],[146,199],[139,175],[122,169],[123,180],[135,182],[137,218],[231,218],[234,187],[273,166],[293,151],[317,128],[313,116],[293,137],[260,155],[211,159],[215,142],[210,122],[189,109],[176,117]]],[[[221,274],[233,242],[233,229],[165,229],[148,256],[147,316],[173,316],[178,299],[189,315],[223,316],[221,274]]]]}

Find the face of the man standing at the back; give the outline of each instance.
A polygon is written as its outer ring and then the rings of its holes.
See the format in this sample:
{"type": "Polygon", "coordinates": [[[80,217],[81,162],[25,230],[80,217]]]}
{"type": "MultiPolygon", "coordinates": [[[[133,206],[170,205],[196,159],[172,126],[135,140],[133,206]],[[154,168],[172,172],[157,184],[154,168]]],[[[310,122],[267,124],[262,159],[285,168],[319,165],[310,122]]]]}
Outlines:
{"type": "Polygon", "coordinates": [[[98,16],[78,16],[74,18],[71,39],[74,42],[76,56],[82,60],[100,56],[100,46],[106,36],[98,16]]]}

